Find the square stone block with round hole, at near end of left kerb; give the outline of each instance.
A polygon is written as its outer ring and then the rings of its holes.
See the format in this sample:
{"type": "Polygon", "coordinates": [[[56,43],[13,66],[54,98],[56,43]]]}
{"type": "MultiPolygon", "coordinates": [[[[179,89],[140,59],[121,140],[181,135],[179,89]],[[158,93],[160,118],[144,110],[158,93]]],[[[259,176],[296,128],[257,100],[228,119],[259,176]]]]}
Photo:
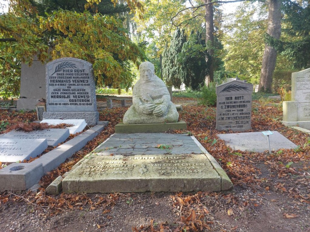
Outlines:
{"type": "Polygon", "coordinates": [[[43,176],[42,164],[13,163],[0,169],[0,192],[26,190],[43,176]]]}

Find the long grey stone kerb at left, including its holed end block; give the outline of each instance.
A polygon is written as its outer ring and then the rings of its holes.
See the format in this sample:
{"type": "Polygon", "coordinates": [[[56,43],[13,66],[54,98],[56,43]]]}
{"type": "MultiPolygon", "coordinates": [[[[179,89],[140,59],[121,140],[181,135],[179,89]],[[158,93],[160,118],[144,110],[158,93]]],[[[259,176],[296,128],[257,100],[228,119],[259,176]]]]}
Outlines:
{"type": "Polygon", "coordinates": [[[0,170],[0,192],[6,190],[26,190],[38,183],[47,172],[55,169],[67,158],[82,149],[108,125],[98,122],[89,130],[42,155],[31,163],[13,163],[0,170]]]}

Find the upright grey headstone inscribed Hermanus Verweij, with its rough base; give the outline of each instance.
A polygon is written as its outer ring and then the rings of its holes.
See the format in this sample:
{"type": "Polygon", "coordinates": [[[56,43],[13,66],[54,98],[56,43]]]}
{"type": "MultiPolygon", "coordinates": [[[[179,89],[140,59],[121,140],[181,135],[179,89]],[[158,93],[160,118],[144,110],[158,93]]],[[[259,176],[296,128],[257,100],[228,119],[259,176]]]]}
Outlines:
{"type": "Polygon", "coordinates": [[[43,119],[85,119],[96,125],[95,80],[92,64],[77,58],[60,58],[46,65],[47,112],[43,119]]]}

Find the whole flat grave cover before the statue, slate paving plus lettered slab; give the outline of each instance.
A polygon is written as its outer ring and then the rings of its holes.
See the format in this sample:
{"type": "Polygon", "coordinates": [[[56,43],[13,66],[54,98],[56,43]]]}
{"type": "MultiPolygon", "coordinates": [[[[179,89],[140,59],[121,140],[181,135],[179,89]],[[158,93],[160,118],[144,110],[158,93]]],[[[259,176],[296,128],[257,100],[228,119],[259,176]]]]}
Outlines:
{"type": "Polygon", "coordinates": [[[111,135],[62,181],[69,192],[225,191],[233,188],[227,174],[187,134],[111,135]],[[170,149],[158,148],[158,145],[170,149]]]}

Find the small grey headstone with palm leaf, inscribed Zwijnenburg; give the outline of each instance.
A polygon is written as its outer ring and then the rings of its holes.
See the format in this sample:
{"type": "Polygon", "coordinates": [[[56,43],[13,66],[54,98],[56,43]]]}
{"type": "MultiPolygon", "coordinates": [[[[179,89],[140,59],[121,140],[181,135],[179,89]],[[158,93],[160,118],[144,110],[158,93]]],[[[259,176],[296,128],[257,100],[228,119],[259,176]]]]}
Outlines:
{"type": "Polygon", "coordinates": [[[251,128],[253,85],[239,80],[216,87],[216,130],[246,131],[251,128]]]}

